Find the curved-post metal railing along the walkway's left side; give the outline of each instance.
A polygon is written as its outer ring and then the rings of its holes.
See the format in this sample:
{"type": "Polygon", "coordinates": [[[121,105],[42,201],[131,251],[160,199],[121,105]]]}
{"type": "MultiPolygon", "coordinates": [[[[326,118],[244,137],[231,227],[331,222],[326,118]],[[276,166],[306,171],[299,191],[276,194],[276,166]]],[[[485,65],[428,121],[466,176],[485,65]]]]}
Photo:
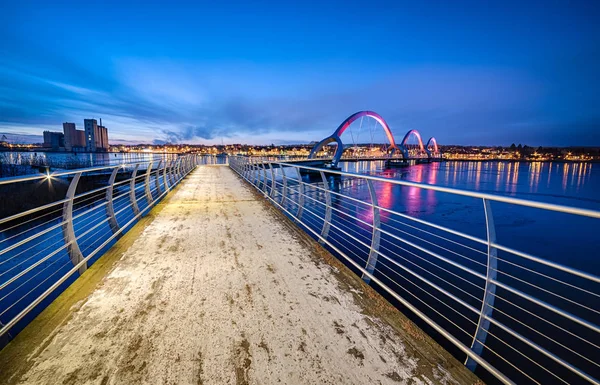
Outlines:
{"type": "Polygon", "coordinates": [[[0,348],[203,163],[215,159],[185,155],[0,179],[5,212],[35,191],[50,200],[0,219],[0,348]]]}

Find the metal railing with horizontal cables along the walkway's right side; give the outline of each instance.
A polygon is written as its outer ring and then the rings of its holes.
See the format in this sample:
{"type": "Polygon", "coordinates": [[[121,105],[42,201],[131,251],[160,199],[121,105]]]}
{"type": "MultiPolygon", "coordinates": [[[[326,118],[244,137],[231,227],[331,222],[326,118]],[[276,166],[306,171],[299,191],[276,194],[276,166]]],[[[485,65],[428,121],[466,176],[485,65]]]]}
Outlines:
{"type": "Polygon", "coordinates": [[[486,381],[600,383],[600,277],[500,243],[492,206],[595,229],[600,212],[269,159],[229,165],[486,381]],[[479,201],[483,236],[380,203],[393,188],[479,201]]]}

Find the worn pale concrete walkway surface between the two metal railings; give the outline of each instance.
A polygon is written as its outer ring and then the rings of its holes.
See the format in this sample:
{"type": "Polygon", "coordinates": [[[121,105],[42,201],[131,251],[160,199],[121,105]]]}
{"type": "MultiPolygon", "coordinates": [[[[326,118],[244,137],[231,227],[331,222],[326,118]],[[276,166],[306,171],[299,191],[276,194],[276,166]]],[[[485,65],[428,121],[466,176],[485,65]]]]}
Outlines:
{"type": "Polygon", "coordinates": [[[172,194],[0,382],[477,382],[229,168],[172,194]]]}

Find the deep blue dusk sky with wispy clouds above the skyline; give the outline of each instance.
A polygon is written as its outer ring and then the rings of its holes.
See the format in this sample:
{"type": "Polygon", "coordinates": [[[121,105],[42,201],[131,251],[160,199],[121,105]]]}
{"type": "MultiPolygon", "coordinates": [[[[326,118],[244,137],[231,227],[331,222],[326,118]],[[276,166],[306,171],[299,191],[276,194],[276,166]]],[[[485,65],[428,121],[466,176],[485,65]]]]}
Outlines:
{"type": "Polygon", "coordinates": [[[368,109],[398,139],[600,145],[597,1],[53,3],[2,5],[0,132],[286,144],[368,109]]]}

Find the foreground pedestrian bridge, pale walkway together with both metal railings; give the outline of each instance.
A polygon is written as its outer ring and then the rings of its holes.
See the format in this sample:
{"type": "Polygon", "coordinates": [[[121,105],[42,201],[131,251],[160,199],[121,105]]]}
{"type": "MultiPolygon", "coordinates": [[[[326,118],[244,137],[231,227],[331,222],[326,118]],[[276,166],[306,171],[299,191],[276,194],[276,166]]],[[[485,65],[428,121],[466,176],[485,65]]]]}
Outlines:
{"type": "Polygon", "coordinates": [[[64,194],[3,207],[0,383],[598,383],[600,278],[506,246],[492,205],[600,213],[200,163],[0,180],[64,194]],[[396,188],[483,202],[483,231],[395,211],[396,188]]]}

